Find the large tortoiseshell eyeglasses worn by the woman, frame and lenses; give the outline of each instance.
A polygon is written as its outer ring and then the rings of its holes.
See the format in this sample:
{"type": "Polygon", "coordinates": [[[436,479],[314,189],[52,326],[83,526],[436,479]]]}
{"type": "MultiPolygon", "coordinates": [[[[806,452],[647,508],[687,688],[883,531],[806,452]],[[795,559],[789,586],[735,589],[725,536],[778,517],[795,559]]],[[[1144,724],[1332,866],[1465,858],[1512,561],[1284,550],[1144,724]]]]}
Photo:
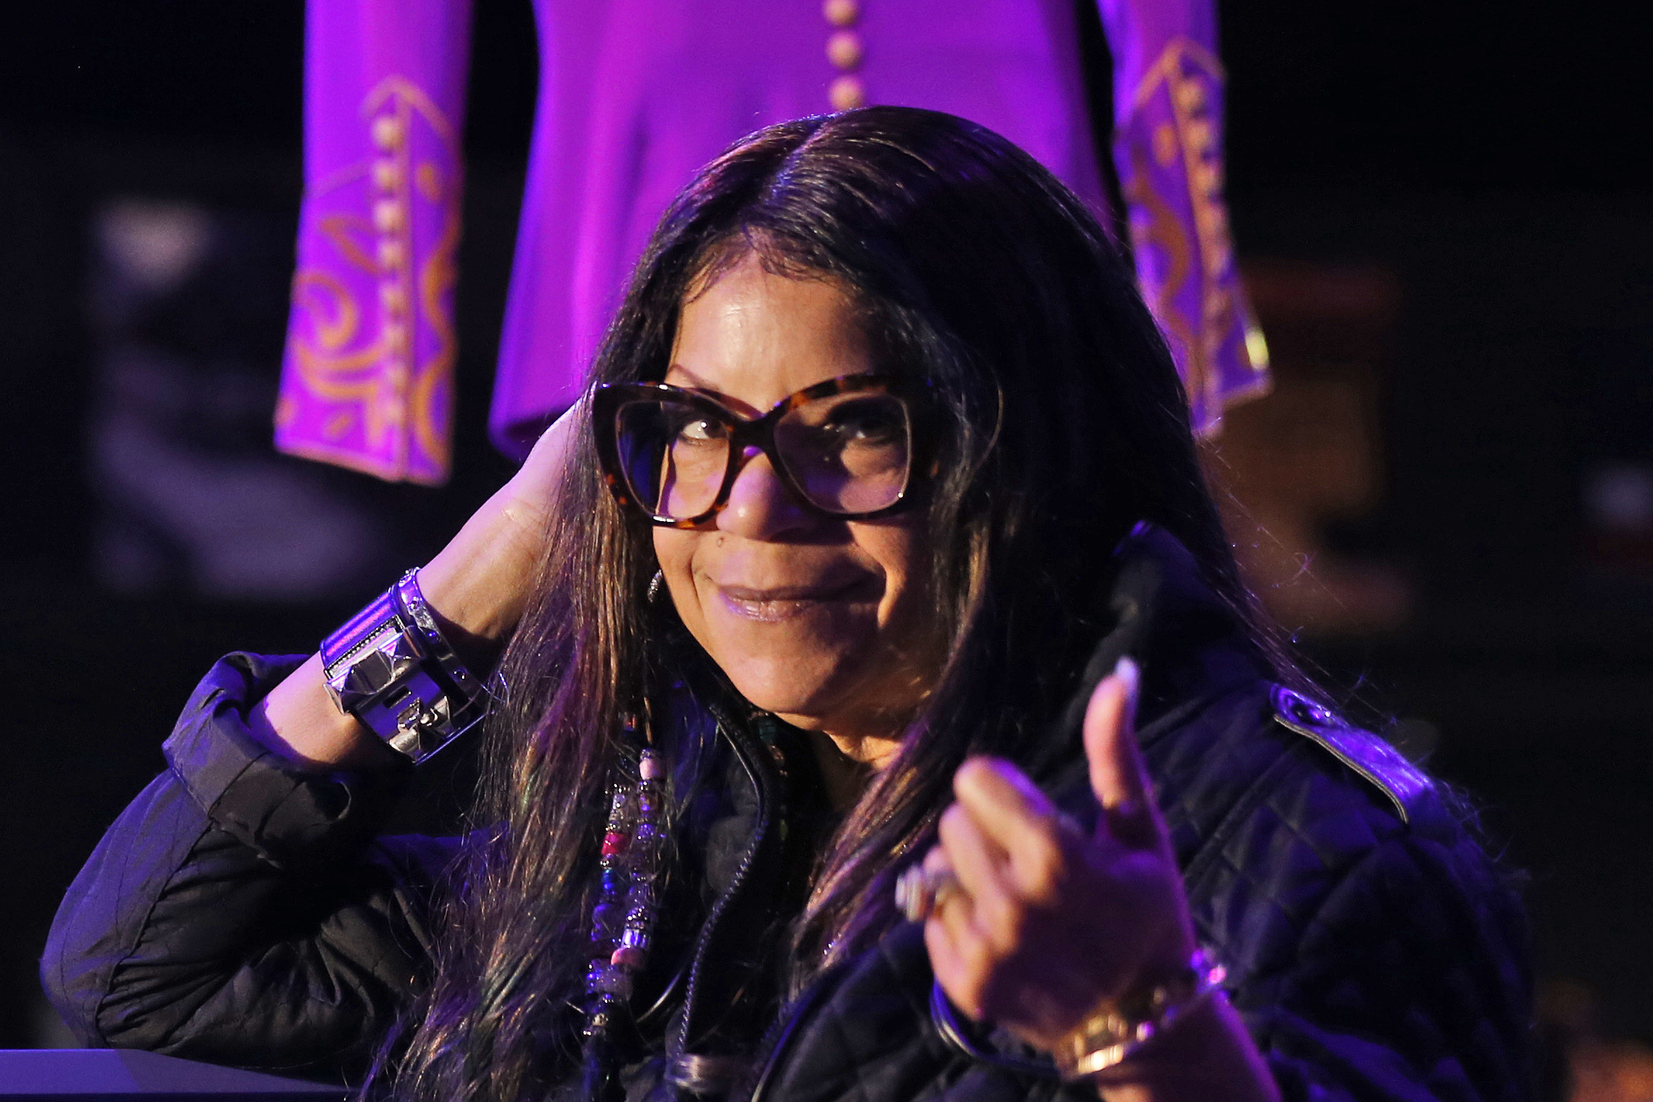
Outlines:
{"type": "Polygon", "coordinates": [[[879,517],[907,504],[912,476],[912,411],[893,383],[828,378],[752,420],[694,390],[608,383],[592,398],[603,479],[653,524],[691,529],[729,504],[755,448],[815,512],[879,517]]]}

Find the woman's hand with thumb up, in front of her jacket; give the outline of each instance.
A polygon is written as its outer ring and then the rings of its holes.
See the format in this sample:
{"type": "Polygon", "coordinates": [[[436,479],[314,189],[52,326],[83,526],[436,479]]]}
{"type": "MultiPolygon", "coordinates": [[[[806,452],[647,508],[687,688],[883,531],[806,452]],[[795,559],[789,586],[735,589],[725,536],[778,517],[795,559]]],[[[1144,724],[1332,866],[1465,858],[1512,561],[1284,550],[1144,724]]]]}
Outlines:
{"type": "Polygon", "coordinates": [[[957,877],[924,927],[936,978],[959,1009],[1041,1049],[1193,953],[1182,874],[1136,743],[1136,696],[1137,669],[1121,663],[1084,715],[1103,806],[1094,834],[1012,763],[972,758],[926,857],[957,877]]]}

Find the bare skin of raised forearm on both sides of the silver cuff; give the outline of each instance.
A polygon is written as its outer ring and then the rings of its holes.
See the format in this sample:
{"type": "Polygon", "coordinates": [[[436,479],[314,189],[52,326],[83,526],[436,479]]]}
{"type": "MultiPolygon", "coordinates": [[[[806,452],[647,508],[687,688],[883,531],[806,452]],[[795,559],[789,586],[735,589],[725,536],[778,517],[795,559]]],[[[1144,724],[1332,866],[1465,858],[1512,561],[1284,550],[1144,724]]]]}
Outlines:
{"type": "MultiPolygon", "coordinates": [[[[420,591],[455,629],[461,654],[493,651],[516,628],[582,413],[575,405],[557,418],[511,481],[420,568],[420,591]]],[[[397,760],[395,750],[334,705],[319,654],[311,654],[253,709],[248,727],[299,768],[377,768],[397,760]]]]}

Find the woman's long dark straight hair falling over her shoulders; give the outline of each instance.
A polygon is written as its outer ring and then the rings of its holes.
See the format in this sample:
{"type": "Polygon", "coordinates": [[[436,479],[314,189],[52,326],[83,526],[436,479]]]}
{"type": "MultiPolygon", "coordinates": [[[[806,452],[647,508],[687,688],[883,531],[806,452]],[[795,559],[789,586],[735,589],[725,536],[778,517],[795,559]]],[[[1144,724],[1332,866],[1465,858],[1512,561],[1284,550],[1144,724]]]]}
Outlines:
{"type": "MultiPolygon", "coordinates": [[[[595,380],[661,378],[686,296],[749,254],[838,281],[881,368],[927,395],[936,438],[926,519],[941,671],[822,859],[793,927],[802,983],[891,927],[889,881],[967,755],[1036,763],[1038,734],[1106,626],[1109,549],[1136,520],[1180,539],[1235,608],[1245,598],[1129,269],[1093,211],[1020,149],[909,107],[747,137],[665,215],[595,380]]],[[[650,532],[608,496],[590,444],[550,512],[486,747],[479,816],[498,826],[435,952],[395,1076],[407,1097],[542,1095],[577,1046],[603,791],[661,631],[650,532]]]]}

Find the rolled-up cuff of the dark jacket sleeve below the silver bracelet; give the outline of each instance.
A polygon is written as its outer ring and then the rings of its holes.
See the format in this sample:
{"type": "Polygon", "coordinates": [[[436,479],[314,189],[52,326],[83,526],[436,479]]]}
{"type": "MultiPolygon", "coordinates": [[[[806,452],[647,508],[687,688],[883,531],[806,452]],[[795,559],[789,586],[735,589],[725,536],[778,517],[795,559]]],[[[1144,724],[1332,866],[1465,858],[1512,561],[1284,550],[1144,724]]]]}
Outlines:
{"type": "Polygon", "coordinates": [[[304,773],[246,727],[253,704],[304,658],[230,654],[202,679],[162,752],[207,818],[276,867],[365,844],[395,806],[412,765],[304,773]]]}

